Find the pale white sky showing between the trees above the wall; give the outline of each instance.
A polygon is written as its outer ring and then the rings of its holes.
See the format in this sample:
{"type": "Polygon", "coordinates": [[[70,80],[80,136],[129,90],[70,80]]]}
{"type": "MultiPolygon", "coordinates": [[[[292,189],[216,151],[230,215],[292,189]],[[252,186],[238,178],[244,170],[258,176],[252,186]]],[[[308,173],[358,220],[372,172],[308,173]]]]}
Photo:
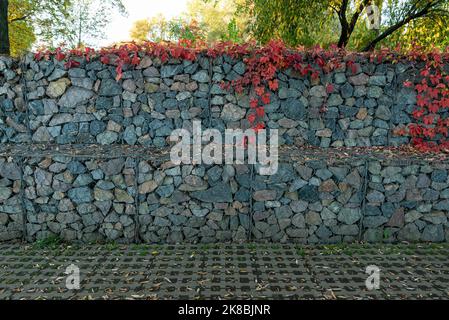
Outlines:
{"type": "Polygon", "coordinates": [[[100,41],[100,46],[130,40],[129,30],[136,20],[151,18],[159,13],[167,19],[179,16],[186,11],[188,0],[122,0],[122,2],[128,16],[113,14],[111,24],[105,30],[106,38],[100,41]]]}

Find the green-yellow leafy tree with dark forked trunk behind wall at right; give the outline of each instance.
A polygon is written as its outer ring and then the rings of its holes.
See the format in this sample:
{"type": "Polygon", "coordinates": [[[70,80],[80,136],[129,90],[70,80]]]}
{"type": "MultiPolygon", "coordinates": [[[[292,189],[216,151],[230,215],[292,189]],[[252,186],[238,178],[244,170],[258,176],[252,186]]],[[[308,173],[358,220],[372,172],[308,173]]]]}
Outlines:
{"type": "Polygon", "coordinates": [[[254,17],[251,29],[261,42],[274,36],[293,46],[323,44],[327,39],[322,35],[331,35],[332,39],[335,34],[339,47],[352,42],[367,51],[404,27],[446,17],[448,3],[448,0],[247,0],[246,6],[254,17]],[[381,8],[385,18],[377,34],[362,25],[366,8],[373,4],[381,8]],[[360,41],[352,41],[354,35],[367,42],[362,45],[360,41]]]}

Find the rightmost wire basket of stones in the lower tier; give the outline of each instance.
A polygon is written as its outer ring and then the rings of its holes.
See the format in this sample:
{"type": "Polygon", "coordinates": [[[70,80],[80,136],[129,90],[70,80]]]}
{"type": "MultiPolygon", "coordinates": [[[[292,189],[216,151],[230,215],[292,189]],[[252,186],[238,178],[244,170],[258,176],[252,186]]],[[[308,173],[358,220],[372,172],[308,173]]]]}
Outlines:
{"type": "Polygon", "coordinates": [[[370,161],[364,239],[448,241],[448,169],[438,162],[370,161]]]}

